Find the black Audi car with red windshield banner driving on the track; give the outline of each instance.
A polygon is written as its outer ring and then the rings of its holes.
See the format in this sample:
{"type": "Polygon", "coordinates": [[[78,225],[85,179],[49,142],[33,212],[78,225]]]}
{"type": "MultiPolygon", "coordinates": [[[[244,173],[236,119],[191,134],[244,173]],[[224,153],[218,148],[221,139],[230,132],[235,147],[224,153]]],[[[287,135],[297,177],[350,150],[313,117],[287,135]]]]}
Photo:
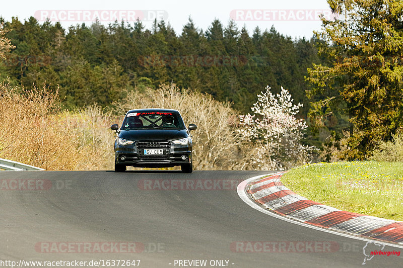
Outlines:
{"type": "Polygon", "coordinates": [[[192,139],[194,124],[185,123],[176,110],[136,109],[126,113],[122,126],[115,130],[115,171],[126,166],[173,167],[180,165],[183,172],[191,173],[192,139]]]}

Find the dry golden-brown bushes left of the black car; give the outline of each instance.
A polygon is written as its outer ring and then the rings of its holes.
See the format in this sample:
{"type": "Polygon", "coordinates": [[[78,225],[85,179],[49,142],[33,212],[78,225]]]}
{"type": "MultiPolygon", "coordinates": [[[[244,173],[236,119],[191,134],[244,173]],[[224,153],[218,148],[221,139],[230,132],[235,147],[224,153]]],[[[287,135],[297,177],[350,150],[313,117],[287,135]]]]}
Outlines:
{"type": "MultiPolygon", "coordinates": [[[[58,92],[48,87],[0,84],[0,157],[49,170],[111,168],[113,151],[99,107],[61,112],[58,92]]],[[[113,136],[112,136],[113,137],[113,136]]]]}

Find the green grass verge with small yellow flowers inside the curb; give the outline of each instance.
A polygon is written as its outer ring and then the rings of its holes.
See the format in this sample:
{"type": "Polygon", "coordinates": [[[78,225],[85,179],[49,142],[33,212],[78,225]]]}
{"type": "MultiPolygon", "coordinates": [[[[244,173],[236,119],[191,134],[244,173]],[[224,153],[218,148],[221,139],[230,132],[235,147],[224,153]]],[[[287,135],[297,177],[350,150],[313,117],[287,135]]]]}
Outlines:
{"type": "Polygon", "coordinates": [[[354,161],[306,164],[282,183],[316,202],[375,217],[403,221],[403,163],[354,161]]]}

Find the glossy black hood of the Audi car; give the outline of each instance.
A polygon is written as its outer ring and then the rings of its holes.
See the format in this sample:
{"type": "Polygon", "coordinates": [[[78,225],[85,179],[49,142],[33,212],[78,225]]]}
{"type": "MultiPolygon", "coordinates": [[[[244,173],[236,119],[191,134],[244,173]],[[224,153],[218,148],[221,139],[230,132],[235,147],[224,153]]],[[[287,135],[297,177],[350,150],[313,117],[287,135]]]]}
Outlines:
{"type": "Polygon", "coordinates": [[[188,136],[185,129],[133,129],[122,130],[118,137],[126,140],[177,140],[188,136]]]}

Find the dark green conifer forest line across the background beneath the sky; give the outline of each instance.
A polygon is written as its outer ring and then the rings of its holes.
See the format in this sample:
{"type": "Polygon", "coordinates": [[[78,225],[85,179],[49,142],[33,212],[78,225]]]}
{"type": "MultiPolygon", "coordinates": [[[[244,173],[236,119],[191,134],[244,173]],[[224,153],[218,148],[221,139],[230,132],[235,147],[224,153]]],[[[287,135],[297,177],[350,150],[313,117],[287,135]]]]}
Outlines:
{"type": "Polygon", "coordinates": [[[230,101],[242,113],[256,101],[265,85],[274,92],[287,88],[308,112],[304,75],[312,62],[320,63],[316,40],[284,36],[275,28],[251,34],[230,21],[219,20],[203,31],[191,19],[180,34],[164,21],[152,29],[142,22],[95,22],[71,26],[39,24],[33,17],[21,22],[0,18],[7,37],[16,46],[0,62],[0,79],[12,84],[50,83],[60,86],[67,108],[93,103],[108,106],[124,98],[121,88],[156,87],[174,82],[180,87],[211,94],[230,101]]]}

